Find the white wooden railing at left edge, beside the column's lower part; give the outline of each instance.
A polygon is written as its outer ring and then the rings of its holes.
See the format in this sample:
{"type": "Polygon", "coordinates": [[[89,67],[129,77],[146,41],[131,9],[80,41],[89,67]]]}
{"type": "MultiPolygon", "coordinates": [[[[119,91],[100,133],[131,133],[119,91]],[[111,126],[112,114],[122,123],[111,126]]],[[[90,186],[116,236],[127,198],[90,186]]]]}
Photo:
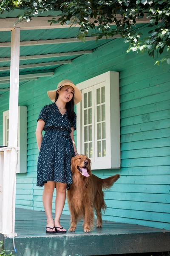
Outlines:
{"type": "Polygon", "coordinates": [[[0,233],[14,237],[17,148],[0,148],[0,233]]]}

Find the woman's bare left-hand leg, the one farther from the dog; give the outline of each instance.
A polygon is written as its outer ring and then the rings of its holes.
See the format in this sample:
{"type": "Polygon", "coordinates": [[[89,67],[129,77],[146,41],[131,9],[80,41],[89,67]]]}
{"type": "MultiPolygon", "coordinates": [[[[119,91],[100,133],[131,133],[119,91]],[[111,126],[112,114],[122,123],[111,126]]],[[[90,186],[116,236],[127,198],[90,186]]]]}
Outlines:
{"type": "MultiPolygon", "coordinates": [[[[55,188],[55,181],[47,181],[44,184],[44,191],[42,194],[42,201],[47,215],[47,227],[54,227],[54,220],[52,218],[52,201],[53,201],[53,192],[55,188]]],[[[47,229],[47,231],[55,231],[55,229],[47,229]]]]}

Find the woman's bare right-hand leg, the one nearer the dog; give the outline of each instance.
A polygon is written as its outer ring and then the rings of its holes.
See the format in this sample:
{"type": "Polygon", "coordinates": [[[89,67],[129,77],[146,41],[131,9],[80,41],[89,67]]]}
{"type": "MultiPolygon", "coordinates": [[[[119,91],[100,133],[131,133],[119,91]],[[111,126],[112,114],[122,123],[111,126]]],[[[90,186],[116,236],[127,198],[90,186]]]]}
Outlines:
{"type": "MultiPolygon", "coordinates": [[[[56,210],[55,210],[55,220],[54,220],[55,227],[62,227],[59,223],[59,220],[65,204],[66,188],[67,188],[67,184],[56,182],[56,210]]],[[[59,228],[57,228],[57,230],[65,231],[65,229],[61,230],[59,228]]]]}

